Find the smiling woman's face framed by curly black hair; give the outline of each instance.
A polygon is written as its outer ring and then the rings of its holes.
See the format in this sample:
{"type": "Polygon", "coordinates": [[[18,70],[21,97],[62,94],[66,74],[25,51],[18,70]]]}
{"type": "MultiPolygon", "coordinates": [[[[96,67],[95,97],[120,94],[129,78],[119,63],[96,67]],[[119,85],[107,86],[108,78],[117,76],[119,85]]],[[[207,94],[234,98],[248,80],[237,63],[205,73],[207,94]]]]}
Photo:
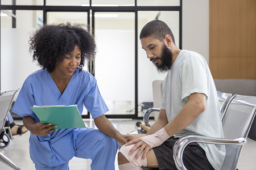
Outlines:
{"type": "Polygon", "coordinates": [[[80,65],[81,62],[81,50],[79,46],[75,46],[75,50],[71,54],[66,54],[63,61],[56,64],[55,69],[52,73],[57,74],[58,76],[70,77],[73,75],[76,68],[80,65]]]}

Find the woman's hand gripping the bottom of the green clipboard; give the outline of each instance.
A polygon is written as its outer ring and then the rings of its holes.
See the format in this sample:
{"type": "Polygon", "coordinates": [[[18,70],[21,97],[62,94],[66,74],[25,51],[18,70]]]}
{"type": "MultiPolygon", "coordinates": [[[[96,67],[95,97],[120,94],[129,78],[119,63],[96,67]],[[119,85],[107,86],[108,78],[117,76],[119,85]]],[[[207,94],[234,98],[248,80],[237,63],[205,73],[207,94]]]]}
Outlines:
{"type": "Polygon", "coordinates": [[[42,124],[42,122],[39,122],[37,124],[34,124],[31,126],[31,133],[35,135],[39,135],[40,137],[43,137],[47,134],[53,133],[57,129],[52,129],[56,128],[57,125],[52,125],[51,124],[42,124]]]}

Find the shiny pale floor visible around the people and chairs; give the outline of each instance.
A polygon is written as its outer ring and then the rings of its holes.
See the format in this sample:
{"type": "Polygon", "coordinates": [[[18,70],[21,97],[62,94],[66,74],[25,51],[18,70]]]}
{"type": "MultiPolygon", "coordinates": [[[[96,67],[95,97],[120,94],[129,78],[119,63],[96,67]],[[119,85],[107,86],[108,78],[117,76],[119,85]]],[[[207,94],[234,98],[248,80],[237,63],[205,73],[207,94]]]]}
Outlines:
{"type": "MultiPolygon", "coordinates": [[[[114,127],[118,129],[122,134],[137,129],[135,125],[137,121],[142,120],[110,120],[114,127]]],[[[15,121],[16,124],[22,124],[22,121],[15,121]]],[[[89,128],[96,128],[93,121],[86,120],[85,125],[89,128]]],[[[32,163],[29,151],[28,151],[28,138],[30,133],[23,134],[21,138],[14,139],[10,142],[10,145],[4,149],[0,149],[0,152],[5,154],[9,159],[16,163],[22,170],[35,169],[32,163]]],[[[247,143],[243,147],[240,162],[238,164],[239,170],[254,170],[256,169],[256,141],[247,138],[247,143]]],[[[69,168],[71,170],[89,170],[90,160],[73,158],[69,162],[69,168]]],[[[115,169],[118,169],[117,162],[115,162],[115,169]]],[[[12,169],[7,165],[0,162],[1,170],[12,169]]]]}

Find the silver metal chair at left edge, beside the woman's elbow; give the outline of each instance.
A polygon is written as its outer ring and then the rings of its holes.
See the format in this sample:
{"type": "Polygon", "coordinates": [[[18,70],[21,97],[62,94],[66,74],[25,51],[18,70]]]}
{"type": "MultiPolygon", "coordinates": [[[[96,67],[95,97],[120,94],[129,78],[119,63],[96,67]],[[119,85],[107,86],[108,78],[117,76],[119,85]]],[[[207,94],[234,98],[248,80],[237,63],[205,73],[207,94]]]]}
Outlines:
{"type": "MultiPolygon", "coordinates": [[[[6,121],[6,117],[7,117],[7,113],[10,109],[10,105],[11,105],[11,102],[13,101],[13,97],[14,95],[16,94],[18,90],[13,90],[13,91],[4,91],[1,93],[0,95],[0,99],[5,95],[5,94],[9,94],[9,98],[6,99],[6,100],[3,100],[2,102],[5,102],[3,105],[5,105],[5,108],[1,107],[0,108],[0,112],[3,112],[1,115],[3,116],[3,119],[0,118],[0,121],[2,122],[2,125],[0,125],[0,133],[1,135],[3,133],[5,133],[5,121],[6,121]]],[[[0,100],[1,101],[1,100],[0,100]]],[[[1,103],[0,103],[1,105],[1,103]]],[[[0,122],[0,123],[1,123],[0,122]]],[[[10,129],[9,129],[10,130],[10,129]]],[[[12,137],[13,138],[13,137],[12,137]]],[[[3,155],[1,152],[0,152],[0,161],[5,163],[6,165],[8,165],[9,167],[13,168],[13,169],[20,169],[15,163],[13,163],[9,158],[7,158],[5,155],[3,155]]]]}

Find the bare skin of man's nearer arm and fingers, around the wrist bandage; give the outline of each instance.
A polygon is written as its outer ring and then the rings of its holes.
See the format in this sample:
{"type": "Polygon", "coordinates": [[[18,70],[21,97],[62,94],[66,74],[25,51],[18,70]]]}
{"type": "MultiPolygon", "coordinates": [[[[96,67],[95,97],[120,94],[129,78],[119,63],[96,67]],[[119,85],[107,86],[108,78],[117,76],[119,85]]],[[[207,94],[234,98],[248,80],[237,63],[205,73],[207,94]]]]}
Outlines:
{"type": "MultiPolygon", "coordinates": [[[[166,129],[168,135],[171,137],[178,133],[179,131],[187,128],[188,125],[192,124],[196,118],[205,111],[206,108],[206,96],[205,94],[194,93],[188,96],[188,103],[184,105],[184,107],[180,110],[177,116],[169,122],[164,129],[166,129]]],[[[141,152],[143,152],[142,160],[146,158],[147,152],[150,150],[150,146],[147,143],[134,139],[131,142],[128,142],[126,146],[135,144],[133,148],[131,148],[129,155],[133,154],[137,148],[139,148],[137,154],[135,155],[135,159],[139,158],[141,152]],[[136,143],[136,144],[135,144],[136,143]]]]}

